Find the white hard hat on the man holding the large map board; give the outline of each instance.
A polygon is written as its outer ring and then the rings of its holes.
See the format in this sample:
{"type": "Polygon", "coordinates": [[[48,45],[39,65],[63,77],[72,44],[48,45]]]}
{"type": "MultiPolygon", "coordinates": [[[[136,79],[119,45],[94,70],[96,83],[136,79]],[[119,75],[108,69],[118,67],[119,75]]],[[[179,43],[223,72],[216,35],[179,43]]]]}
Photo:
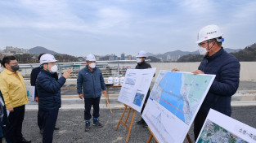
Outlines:
{"type": "Polygon", "coordinates": [[[217,37],[222,37],[222,35],[223,34],[219,30],[217,25],[207,25],[204,28],[201,28],[200,32],[198,32],[196,43],[200,43],[202,41],[214,39],[217,37]]]}

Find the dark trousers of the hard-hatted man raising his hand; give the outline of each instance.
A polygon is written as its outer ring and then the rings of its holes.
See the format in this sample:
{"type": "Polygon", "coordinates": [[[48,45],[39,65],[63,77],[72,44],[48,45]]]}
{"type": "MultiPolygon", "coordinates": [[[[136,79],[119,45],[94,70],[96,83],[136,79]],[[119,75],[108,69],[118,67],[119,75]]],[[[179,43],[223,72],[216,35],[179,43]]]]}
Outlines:
{"type": "Polygon", "coordinates": [[[59,109],[56,111],[40,111],[43,120],[43,143],[52,143],[54,127],[58,117],[59,109]]]}

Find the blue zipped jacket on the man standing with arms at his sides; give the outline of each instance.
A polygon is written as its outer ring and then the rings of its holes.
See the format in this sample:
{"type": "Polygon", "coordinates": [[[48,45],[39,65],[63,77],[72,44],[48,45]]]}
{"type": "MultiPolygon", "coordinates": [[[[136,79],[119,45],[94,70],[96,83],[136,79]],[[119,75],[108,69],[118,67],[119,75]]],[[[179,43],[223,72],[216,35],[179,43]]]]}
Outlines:
{"type": "Polygon", "coordinates": [[[101,89],[106,90],[104,78],[101,70],[97,67],[91,72],[88,67],[84,67],[79,71],[77,79],[77,91],[82,94],[83,98],[98,98],[101,96],[101,89]]]}

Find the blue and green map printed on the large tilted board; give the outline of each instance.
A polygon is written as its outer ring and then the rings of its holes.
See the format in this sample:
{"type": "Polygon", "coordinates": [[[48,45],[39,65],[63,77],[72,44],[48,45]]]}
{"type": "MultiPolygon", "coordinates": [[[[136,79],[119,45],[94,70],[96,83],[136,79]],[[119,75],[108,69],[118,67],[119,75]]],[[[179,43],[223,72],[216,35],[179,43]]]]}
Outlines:
{"type": "Polygon", "coordinates": [[[190,124],[212,78],[186,72],[160,71],[150,99],[159,102],[184,123],[190,124]]]}

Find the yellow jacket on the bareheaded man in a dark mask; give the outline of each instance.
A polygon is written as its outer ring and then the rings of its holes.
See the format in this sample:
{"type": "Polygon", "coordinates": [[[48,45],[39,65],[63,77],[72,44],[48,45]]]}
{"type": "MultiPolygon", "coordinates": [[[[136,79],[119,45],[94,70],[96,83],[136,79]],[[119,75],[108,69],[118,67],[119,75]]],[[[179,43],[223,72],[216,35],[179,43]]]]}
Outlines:
{"type": "Polygon", "coordinates": [[[20,72],[14,73],[5,68],[0,74],[0,90],[7,109],[23,106],[29,102],[25,82],[20,72]]]}

